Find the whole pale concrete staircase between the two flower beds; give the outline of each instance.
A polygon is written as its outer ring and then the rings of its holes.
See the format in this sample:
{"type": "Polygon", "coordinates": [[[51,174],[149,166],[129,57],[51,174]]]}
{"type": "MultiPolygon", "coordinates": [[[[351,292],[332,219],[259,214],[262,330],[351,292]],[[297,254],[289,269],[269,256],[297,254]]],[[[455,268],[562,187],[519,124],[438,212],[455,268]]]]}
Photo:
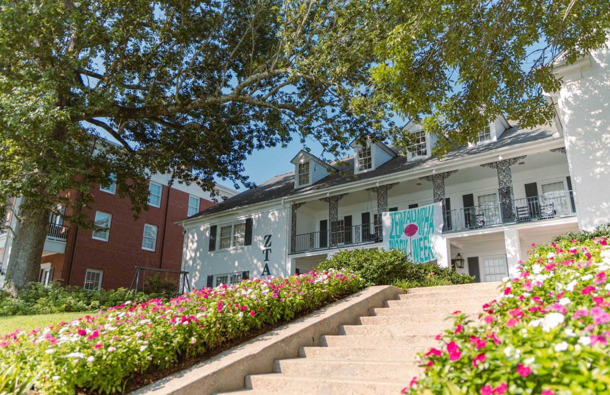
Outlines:
{"type": "Polygon", "coordinates": [[[453,325],[456,310],[476,315],[500,296],[499,282],[413,288],[385,307],[371,309],[358,325],[301,347],[300,358],[276,360],[274,372],[246,376],[256,394],[400,394],[422,372],[416,354],[435,346],[434,336],[453,325]]]}

